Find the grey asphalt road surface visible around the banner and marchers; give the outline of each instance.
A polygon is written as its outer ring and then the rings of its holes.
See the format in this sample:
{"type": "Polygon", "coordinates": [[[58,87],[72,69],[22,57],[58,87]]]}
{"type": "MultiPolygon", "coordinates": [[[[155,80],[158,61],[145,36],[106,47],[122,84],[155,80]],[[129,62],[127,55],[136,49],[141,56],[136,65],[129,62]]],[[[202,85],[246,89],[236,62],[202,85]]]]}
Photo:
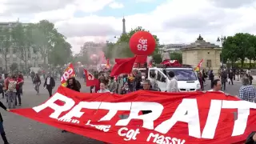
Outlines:
{"type": "MultiPolygon", "coordinates": [[[[57,83],[57,86],[59,84],[57,83]]],[[[235,82],[234,86],[227,86],[226,93],[236,95],[240,86],[241,83],[235,82]]],[[[36,95],[30,79],[26,79],[23,89],[22,106],[19,106],[21,108],[38,106],[49,98],[47,91],[43,90],[42,86],[40,87],[40,94],[36,95]]],[[[210,82],[207,82],[206,90],[210,90],[210,82]]],[[[89,89],[86,86],[82,86],[82,92],[88,91],[89,89]]],[[[1,101],[5,103],[6,99],[1,99],[1,101]]],[[[82,137],[78,134],[62,134],[61,130],[52,126],[7,113],[3,110],[1,112],[10,144],[102,144],[102,142],[82,137]]],[[[1,141],[2,139],[0,138],[0,143],[2,143],[1,141]]]]}

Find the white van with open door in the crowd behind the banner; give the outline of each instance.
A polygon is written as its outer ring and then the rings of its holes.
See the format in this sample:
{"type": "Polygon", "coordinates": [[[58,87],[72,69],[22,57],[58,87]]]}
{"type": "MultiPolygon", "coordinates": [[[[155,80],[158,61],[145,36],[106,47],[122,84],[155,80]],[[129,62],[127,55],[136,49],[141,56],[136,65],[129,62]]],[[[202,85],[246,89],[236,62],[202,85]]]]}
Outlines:
{"type": "Polygon", "coordinates": [[[148,70],[148,79],[151,73],[156,74],[158,87],[161,91],[166,91],[166,82],[170,81],[166,74],[173,71],[175,77],[178,79],[178,89],[180,91],[199,91],[201,90],[200,82],[198,81],[197,74],[190,66],[178,67],[150,67],[148,70]]]}

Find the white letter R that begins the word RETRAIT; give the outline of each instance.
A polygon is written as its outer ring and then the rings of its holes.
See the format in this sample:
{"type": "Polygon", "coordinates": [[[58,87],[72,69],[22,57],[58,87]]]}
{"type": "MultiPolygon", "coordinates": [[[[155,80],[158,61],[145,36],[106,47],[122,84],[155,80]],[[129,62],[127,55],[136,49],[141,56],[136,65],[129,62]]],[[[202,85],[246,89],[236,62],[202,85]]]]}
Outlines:
{"type": "Polygon", "coordinates": [[[41,110],[46,109],[47,107],[50,107],[51,109],[54,110],[54,113],[50,114],[50,118],[58,118],[62,112],[66,110],[70,110],[74,106],[74,101],[72,98],[67,98],[66,96],[56,93],[54,94],[48,101],[43,103],[40,106],[35,106],[33,107],[34,111],[37,113],[40,112],[41,110]],[[65,104],[63,106],[58,106],[56,103],[57,100],[64,101],[65,104]]]}

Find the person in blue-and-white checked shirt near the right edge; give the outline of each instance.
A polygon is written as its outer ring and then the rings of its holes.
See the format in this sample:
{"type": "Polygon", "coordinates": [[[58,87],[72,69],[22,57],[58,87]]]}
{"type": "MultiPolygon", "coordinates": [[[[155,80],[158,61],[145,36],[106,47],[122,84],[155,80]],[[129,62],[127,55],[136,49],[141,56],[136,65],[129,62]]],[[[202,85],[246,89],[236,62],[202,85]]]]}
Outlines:
{"type": "Polygon", "coordinates": [[[248,77],[242,78],[242,86],[239,89],[239,98],[242,100],[253,102],[256,97],[256,90],[254,86],[250,85],[248,77]]]}

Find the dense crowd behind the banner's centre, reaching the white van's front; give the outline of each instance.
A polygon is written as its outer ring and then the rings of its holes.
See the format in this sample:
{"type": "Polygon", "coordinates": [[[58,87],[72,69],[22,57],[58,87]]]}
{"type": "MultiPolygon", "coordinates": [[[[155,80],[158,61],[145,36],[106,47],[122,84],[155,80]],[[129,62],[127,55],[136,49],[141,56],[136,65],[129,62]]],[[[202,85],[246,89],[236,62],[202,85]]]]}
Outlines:
{"type": "MultiPolygon", "coordinates": [[[[144,90],[148,86],[149,90],[159,91],[156,74],[150,74],[148,80],[145,73],[139,70],[133,70],[132,74],[120,74],[118,77],[111,77],[109,73],[94,71],[94,77],[98,78],[98,86],[90,86],[90,93],[112,92],[116,94],[128,94],[136,90],[144,90]],[[146,86],[146,87],[145,87],[146,86]]],[[[174,72],[168,73],[170,82],[167,83],[166,92],[178,92],[178,81],[174,72]]]]}

